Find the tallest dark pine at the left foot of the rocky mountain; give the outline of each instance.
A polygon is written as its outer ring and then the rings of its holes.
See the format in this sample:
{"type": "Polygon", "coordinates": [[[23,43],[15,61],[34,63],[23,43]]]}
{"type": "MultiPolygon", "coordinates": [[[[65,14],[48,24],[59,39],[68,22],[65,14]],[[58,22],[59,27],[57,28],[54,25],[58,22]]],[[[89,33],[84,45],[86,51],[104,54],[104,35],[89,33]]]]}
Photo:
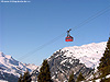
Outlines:
{"type": "Polygon", "coordinates": [[[37,75],[37,82],[53,82],[51,80],[51,71],[47,60],[44,60],[37,75]]]}

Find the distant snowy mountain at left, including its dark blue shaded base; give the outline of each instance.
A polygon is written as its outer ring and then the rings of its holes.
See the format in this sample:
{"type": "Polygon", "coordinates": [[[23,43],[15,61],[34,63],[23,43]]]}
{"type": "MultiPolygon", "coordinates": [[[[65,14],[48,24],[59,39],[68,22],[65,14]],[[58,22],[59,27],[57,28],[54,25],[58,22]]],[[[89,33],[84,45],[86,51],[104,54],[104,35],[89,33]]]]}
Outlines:
{"type": "Polygon", "coordinates": [[[37,66],[14,60],[11,56],[0,52],[0,80],[18,82],[18,77],[26,69],[32,72],[37,66]]]}

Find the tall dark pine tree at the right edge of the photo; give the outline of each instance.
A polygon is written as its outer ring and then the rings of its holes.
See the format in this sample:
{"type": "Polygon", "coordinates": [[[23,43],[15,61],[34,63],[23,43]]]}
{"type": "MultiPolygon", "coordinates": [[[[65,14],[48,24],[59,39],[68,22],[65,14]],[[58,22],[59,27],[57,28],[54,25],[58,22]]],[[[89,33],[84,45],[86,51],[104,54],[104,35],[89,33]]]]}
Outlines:
{"type": "Polygon", "coordinates": [[[110,37],[107,43],[103,57],[101,57],[100,59],[98,70],[102,73],[102,75],[107,75],[110,73],[110,37]]]}

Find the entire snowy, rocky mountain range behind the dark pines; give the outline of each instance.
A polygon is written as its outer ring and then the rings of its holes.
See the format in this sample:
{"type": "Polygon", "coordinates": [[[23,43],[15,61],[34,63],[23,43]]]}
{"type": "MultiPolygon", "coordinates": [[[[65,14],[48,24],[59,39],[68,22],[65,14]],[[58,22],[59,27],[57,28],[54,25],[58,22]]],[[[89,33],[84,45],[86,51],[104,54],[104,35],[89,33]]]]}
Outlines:
{"type": "MultiPolygon", "coordinates": [[[[53,81],[67,82],[72,71],[74,71],[75,80],[80,72],[85,77],[90,77],[92,69],[97,69],[99,65],[99,59],[105,52],[106,45],[107,42],[92,43],[82,46],[65,47],[55,51],[47,58],[53,81]]],[[[40,67],[19,62],[11,56],[0,52],[0,81],[16,82],[19,74],[26,69],[32,72],[32,80],[36,81],[40,67]]]]}

